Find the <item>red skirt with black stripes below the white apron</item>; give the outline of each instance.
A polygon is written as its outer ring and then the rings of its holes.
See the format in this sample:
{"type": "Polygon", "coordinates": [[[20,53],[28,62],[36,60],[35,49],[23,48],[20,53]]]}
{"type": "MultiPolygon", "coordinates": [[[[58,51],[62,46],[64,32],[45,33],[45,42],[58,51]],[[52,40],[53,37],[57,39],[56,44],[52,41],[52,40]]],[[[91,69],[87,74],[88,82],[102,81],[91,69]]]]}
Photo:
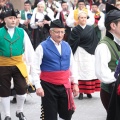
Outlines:
{"type": "MultiPolygon", "coordinates": [[[[79,80],[79,93],[91,94],[100,91],[100,80],[79,80]]],[[[73,88],[73,84],[72,84],[73,88]]]]}

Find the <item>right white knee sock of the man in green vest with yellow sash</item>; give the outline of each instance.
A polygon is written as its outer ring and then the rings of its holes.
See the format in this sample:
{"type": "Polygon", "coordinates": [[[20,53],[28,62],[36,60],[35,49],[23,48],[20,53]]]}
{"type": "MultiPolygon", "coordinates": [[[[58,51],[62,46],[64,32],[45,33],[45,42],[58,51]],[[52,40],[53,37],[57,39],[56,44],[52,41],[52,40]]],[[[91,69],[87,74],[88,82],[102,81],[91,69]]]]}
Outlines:
{"type": "Polygon", "coordinates": [[[23,112],[23,105],[26,98],[26,94],[17,95],[16,98],[17,98],[17,113],[23,112]]]}

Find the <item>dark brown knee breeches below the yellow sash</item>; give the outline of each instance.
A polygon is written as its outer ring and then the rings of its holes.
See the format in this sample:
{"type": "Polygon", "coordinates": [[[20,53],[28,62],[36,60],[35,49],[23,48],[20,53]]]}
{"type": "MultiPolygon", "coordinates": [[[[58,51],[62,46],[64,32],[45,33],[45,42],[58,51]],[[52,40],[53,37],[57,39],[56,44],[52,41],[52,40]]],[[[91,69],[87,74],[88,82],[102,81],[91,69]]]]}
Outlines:
{"type": "Polygon", "coordinates": [[[16,66],[0,66],[0,96],[11,95],[11,79],[13,78],[14,88],[18,95],[26,93],[27,84],[25,78],[16,66]]]}

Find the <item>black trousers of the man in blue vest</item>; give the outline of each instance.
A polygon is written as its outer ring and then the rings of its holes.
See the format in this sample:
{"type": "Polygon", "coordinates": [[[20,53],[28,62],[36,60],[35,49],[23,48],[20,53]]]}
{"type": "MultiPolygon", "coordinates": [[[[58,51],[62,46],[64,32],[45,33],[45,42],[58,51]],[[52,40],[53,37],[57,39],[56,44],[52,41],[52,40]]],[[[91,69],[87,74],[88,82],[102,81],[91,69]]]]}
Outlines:
{"type": "Polygon", "coordinates": [[[57,120],[57,114],[64,120],[71,120],[73,110],[68,110],[68,98],[63,85],[54,85],[41,80],[45,96],[42,97],[43,120],[57,120]]]}

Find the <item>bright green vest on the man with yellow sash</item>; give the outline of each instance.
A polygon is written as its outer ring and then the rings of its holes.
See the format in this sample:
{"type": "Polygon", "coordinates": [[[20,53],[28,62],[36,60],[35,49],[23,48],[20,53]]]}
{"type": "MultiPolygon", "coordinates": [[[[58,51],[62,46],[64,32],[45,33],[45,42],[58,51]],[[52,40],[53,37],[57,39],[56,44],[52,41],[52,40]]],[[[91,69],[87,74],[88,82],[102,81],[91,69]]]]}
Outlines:
{"type": "Polygon", "coordinates": [[[13,37],[4,27],[0,29],[0,56],[12,57],[22,55],[24,52],[23,45],[24,31],[22,28],[15,28],[13,37]]]}

